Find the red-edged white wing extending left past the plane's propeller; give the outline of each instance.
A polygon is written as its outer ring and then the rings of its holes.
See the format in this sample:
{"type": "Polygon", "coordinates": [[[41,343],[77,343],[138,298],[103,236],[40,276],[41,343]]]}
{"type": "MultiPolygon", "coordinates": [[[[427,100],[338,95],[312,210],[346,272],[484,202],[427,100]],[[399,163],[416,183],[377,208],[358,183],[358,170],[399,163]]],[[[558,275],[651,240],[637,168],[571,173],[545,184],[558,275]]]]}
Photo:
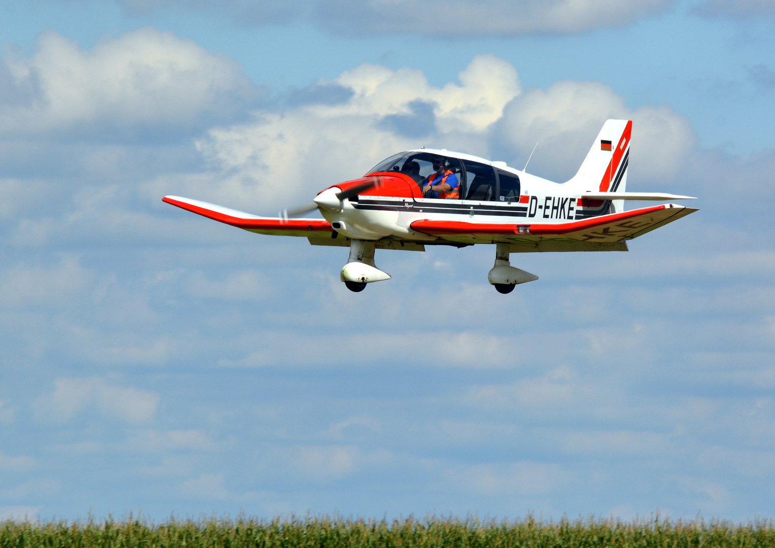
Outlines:
{"type": "Polygon", "coordinates": [[[208,217],[208,219],[215,219],[219,222],[225,222],[227,225],[259,234],[324,237],[332,233],[331,225],[325,219],[259,217],[258,215],[237,211],[236,209],[224,208],[220,205],[181,198],[180,196],[164,196],[161,199],[168,204],[177,205],[181,209],[208,217]]]}

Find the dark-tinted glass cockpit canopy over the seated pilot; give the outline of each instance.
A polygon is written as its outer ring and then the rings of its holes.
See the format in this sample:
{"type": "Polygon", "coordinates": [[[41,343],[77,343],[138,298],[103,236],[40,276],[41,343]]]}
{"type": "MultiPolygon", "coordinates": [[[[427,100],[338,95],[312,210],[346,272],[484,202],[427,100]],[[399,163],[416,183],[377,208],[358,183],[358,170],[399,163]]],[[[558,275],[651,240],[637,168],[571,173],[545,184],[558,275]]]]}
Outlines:
{"type": "Polygon", "coordinates": [[[369,173],[398,171],[406,174],[422,188],[422,181],[434,172],[434,160],[449,160],[449,171],[460,181],[460,197],[478,202],[519,200],[519,177],[491,165],[460,158],[443,156],[436,152],[402,152],[381,161],[369,173]]]}

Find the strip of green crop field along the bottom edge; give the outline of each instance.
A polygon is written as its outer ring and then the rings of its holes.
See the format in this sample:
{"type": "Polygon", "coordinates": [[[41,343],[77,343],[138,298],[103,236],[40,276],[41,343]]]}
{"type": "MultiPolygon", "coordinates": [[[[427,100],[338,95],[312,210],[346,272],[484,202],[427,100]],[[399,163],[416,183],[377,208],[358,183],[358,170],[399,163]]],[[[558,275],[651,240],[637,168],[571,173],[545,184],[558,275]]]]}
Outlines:
{"type": "Polygon", "coordinates": [[[305,519],[199,519],[153,523],[144,519],[86,522],[2,523],[0,548],[316,548],[524,546],[525,548],[689,548],[773,546],[773,522],[671,521],[652,518],[546,522],[412,517],[385,520],[314,517],[305,519]]]}

